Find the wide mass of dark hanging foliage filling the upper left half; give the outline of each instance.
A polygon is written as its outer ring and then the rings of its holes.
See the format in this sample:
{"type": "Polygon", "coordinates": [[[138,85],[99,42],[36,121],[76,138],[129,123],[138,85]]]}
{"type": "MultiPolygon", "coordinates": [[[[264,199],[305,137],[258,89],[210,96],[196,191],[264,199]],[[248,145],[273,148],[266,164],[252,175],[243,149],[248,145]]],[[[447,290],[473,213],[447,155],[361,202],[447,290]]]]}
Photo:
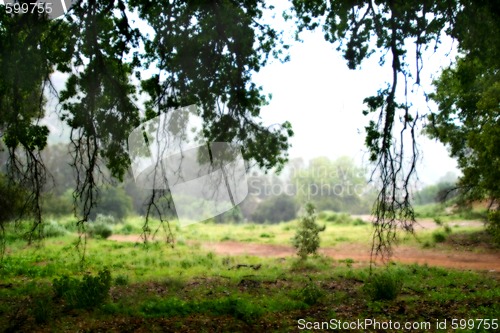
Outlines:
{"type": "MultiPolygon", "coordinates": [[[[74,205],[82,207],[82,229],[98,203],[101,166],[123,180],[130,131],[178,106],[198,105],[207,141],[240,143],[247,160],[282,168],[293,131],[287,122],[262,124],[259,113],[267,97],[251,79],[282,52],[279,33],[261,21],[264,9],[262,0],[79,0],[64,19],[53,21],[37,11],[0,10],[0,137],[10,152],[8,174],[32,193],[33,230],[43,221],[40,151],[48,135],[37,121],[55,69],[69,75],[65,89],[52,92],[60,118],[71,128],[74,205]],[[134,11],[153,35],[131,26],[134,11]],[[156,72],[142,77],[147,69],[156,72]],[[139,93],[149,96],[143,116],[139,93]]],[[[144,230],[150,214],[162,218],[159,203],[165,200],[168,191],[152,191],[144,230]]]]}

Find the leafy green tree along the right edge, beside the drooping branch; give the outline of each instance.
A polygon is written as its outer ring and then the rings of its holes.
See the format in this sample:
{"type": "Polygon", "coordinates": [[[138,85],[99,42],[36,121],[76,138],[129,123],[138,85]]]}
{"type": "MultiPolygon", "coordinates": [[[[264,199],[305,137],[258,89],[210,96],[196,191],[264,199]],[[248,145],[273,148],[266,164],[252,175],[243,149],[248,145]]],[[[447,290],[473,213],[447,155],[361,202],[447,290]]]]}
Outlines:
{"type": "MultiPolygon", "coordinates": [[[[438,111],[429,115],[426,133],[449,147],[462,171],[457,187],[462,204],[500,199],[500,12],[498,1],[471,2],[472,16],[457,30],[461,56],[434,81],[431,98],[438,111]],[[477,24],[481,22],[481,24],[477,24]],[[468,27],[468,29],[467,29],[468,27]]],[[[496,214],[490,223],[498,228],[496,214]]],[[[491,226],[490,226],[491,229],[491,226]]],[[[498,231],[493,231],[498,234],[498,231]]]]}

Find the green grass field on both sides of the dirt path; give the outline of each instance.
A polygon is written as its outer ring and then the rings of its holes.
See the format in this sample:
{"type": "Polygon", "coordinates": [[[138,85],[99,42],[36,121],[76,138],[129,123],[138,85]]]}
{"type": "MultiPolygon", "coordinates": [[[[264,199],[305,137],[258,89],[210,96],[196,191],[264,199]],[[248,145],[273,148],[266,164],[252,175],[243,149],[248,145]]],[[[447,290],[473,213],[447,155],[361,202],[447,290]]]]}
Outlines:
{"type": "MultiPolygon", "coordinates": [[[[321,234],[322,247],[371,240],[369,223],[348,216],[320,217],[319,223],[327,226],[321,234]]],[[[162,241],[145,246],[89,239],[83,265],[75,248],[78,236],[73,222],[72,218],[53,221],[51,228],[60,232],[30,246],[16,236],[22,234],[22,226],[18,233],[7,230],[0,269],[0,330],[289,332],[312,330],[314,322],[335,328],[339,321],[359,319],[380,325],[410,323],[420,325],[416,331],[435,331],[436,323],[446,319],[443,331],[481,332],[496,331],[494,323],[500,319],[498,272],[393,263],[378,265],[370,275],[367,265],[349,259],[218,255],[200,245],[225,241],[289,245],[296,221],[174,225],[174,248],[162,241]],[[489,321],[454,321],[457,330],[452,330],[453,319],[489,321]]],[[[114,225],[113,232],[136,235],[142,231],[141,223],[140,218],[130,218],[114,225]]],[[[403,244],[445,251],[456,246],[447,238],[461,235],[470,240],[480,231],[451,229],[419,231],[417,239],[407,237],[403,244]],[[436,232],[445,234],[445,239],[436,239],[436,232]]],[[[385,328],[371,325],[353,331],[385,328]]]]}

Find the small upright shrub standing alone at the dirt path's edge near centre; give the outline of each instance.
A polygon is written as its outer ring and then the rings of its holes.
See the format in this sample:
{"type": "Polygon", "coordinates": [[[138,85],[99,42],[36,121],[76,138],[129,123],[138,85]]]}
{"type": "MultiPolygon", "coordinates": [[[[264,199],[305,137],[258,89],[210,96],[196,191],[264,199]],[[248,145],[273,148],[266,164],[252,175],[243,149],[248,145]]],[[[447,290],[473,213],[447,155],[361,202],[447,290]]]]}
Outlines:
{"type": "Polygon", "coordinates": [[[299,228],[292,239],[297,254],[306,259],[309,254],[316,254],[319,248],[319,233],[325,230],[316,223],[315,209],[312,204],[306,205],[306,215],[300,220],[299,228]]]}

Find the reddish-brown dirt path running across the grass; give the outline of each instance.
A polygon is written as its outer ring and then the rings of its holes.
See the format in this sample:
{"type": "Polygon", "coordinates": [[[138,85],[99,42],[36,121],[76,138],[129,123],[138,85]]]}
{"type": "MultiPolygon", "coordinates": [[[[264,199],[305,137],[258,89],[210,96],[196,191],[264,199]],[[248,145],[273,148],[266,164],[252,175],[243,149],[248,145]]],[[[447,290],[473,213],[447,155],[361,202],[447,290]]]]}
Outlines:
{"type": "MultiPolygon", "coordinates": [[[[113,235],[110,240],[121,242],[141,242],[139,235],[113,235]]],[[[287,245],[225,242],[190,242],[199,243],[202,248],[220,255],[253,255],[261,257],[289,257],[295,250],[287,245]]],[[[320,249],[320,253],[331,258],[353,259],[359,264],[369,263],[370,246],[363,244],[340,244],[320,249]]],[[[473,253],[467,251],[439,251],[411,246],[398,246],[394,251],[394,261],[405,264],[428,264],[458,269],[488,270],[500,272],[500,253],[473,253]]]]}

